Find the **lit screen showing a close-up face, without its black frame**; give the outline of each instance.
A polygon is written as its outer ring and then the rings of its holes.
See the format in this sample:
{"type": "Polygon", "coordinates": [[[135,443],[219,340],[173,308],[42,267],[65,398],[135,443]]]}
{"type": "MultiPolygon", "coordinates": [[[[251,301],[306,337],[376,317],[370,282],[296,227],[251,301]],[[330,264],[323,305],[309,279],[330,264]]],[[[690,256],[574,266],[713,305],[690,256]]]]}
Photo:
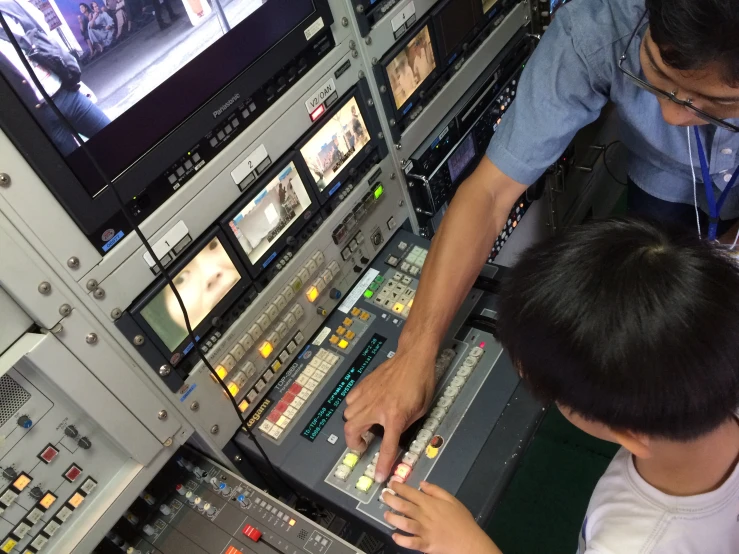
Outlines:
{"type": "MultiPolygon", "coordinates": [[[[241,274],[218,237],[211,240],[173,278],[187,308],[193,329],[223,300],[241,279],[241,274]]],[[[165,286],[142,310],[141,316],[174,351],[187,337],[185,318],[172,289],[165,286]]]]}

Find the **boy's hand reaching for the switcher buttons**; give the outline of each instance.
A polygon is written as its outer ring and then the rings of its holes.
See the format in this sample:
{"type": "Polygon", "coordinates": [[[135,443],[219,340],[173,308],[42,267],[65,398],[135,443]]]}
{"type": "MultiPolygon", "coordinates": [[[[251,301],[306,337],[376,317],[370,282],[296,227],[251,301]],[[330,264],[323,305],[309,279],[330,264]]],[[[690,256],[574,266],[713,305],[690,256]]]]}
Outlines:
{"type": "Polygon", "coordinates": [[[383,499],[403,515],[387,511],[385,520],[412,535],[394,533],[399,546],[426,554],[502,554],[469,510],[444,489],[425,481],[420,491],[395,481],[390,487],[398,496],[385,493],[383,499]]]}

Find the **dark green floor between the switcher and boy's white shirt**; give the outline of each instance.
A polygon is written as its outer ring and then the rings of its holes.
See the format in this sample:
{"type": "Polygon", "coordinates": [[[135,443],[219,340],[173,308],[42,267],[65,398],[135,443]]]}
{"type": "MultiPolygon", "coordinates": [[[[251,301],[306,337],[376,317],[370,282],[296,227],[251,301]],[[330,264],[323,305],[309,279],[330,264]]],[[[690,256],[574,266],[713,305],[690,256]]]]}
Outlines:
{"type": "Polygon", "coordinates": [[[488,534],[504,554],[574,554],[590,495],[617,450],[550,409],[488,534]]]}

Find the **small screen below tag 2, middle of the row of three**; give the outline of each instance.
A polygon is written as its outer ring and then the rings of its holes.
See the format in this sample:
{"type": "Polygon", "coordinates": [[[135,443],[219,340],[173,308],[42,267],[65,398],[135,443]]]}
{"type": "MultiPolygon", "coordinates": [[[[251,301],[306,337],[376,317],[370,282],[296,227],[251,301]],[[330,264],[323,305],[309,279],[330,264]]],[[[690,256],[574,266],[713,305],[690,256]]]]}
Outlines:
{"type": "Polygon", "coordinates": [[[236,216],[229,226],[252,265],[256,265],[290,225],[311,205],[293,162],[236,216]]]}

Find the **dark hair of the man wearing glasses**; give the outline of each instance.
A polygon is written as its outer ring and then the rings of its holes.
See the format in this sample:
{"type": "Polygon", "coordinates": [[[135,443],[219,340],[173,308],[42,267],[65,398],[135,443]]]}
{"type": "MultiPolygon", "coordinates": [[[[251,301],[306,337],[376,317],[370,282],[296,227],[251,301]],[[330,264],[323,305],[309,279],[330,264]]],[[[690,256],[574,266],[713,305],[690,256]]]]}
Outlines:
{"type": "Polygon", "coordinates": [[[718,62],[721,78],[739,84],[739,5],[735,0],[646,0],[649,30],[664,62],[679,70],[718,62]]]}

